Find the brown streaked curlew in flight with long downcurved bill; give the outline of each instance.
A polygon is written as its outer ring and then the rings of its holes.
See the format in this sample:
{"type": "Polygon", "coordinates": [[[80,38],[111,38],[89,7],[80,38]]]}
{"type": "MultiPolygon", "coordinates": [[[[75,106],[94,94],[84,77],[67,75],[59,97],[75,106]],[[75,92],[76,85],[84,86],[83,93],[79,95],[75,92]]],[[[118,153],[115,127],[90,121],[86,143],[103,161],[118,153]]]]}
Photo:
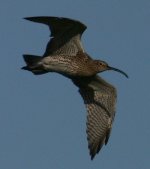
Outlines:
{"type": "Polygon", "coordinates": [[[87,140],[91,159],[107,144],[115,117],[116,89],[97,74],[122,70],[102,60],[92,59],[84,50],[81,36],[83,23],[63,17],[27,17],[29,21],[48,25],[51,35],[43,56],[23,55],[24,70],[35,75],[56,72],[72,80],[87,109],[87,140]]]}

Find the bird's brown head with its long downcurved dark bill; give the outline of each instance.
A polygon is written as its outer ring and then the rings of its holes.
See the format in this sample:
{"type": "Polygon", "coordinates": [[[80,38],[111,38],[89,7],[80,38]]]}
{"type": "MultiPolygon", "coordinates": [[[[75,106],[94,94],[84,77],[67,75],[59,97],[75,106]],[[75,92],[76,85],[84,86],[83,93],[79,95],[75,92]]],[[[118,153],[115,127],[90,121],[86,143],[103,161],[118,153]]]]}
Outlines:
{"type": "Polygon", "coordinates": [[[103,72],[103,71],[106,71],[106,70],[114,70],[116,72],[123,74],[125,77],[128,78],[128,75],[124,71],[117,69],[117,68],[114,68],[114,67],[111,67],[104,61],[95,60],[95,62],[96,62],[96,65],[97,65],[98,72],[103,72]]]}

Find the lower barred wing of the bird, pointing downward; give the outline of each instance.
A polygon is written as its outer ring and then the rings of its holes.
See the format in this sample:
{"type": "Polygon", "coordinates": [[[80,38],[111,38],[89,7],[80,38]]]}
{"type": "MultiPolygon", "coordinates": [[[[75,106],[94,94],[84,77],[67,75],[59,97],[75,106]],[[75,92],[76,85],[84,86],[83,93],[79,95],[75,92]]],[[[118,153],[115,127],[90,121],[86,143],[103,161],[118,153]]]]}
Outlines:
{"type": "Polygon", "coordinates": [[[87,108],[87,139],[91,159],[107,144],[115,116],[116,90],[99,76],[73,79],[87,108]]]}

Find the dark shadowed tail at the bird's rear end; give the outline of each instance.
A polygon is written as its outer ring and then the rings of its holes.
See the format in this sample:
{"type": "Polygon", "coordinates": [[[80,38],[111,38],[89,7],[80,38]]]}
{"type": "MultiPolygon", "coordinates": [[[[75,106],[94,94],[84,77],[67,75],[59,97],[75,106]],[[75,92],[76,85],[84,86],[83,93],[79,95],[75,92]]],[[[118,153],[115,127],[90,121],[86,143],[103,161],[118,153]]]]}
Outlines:
{"type": "Polygon", "coordinates": [[[31,71],[35,75],[47,73],[43,69],[42,64],[40,64],[42,57],[35,55],[23,55],[23,58],[27,65],[22,67],[22,69],[31,71]]]}

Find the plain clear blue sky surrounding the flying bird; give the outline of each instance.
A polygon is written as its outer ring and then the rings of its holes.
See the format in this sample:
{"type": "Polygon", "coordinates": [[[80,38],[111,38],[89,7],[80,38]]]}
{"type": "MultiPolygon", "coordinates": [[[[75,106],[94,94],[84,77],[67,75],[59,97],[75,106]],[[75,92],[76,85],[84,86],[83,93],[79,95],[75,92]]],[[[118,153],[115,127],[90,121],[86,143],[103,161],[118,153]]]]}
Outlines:
{"type": "Polygon", "coordinates": [[[0,169],[150,168],[150,1],[0,0],[0,169]],[[45,25],[28,16],[64,16],[88,26],[86,51],[124,70],[101,74],[118,90],[109,143],[93,161],[86,109],[72,82],[20,68],[22,54],[42,55],[45,25]]]}

